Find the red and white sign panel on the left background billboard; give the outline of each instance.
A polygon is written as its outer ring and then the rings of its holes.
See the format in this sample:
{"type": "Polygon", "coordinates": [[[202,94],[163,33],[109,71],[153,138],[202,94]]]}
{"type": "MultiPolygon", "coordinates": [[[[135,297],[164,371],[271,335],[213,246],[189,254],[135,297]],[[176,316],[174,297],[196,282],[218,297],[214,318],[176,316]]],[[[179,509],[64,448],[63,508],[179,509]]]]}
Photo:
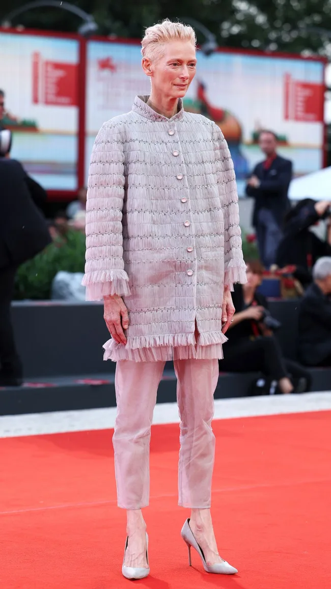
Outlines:
{"type": "Polygon", "coordinates": [[[45,61],[39,52],[32,54],[32,102],[56,106],[78,105],[78,66],[45,61]]]}

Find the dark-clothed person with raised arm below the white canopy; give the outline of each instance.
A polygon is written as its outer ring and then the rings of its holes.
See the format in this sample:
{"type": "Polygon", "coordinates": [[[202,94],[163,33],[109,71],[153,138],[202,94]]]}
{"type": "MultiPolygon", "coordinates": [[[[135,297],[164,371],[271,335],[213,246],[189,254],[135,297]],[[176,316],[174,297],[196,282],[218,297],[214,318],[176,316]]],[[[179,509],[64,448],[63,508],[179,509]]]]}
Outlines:
{"type": "Polygon", "coordinates": [[[279,244],[276,264],[280,268],[297,267],[294,276],[303,286],[312,282],[312,267],[321,256],[331,256],[331,203],[328,200],[316,202],[304,198],[291,209],[284,219],[284,236],[279,244]],[[319,239],[310,227],[327,219],[326,240],[319,239]]]}

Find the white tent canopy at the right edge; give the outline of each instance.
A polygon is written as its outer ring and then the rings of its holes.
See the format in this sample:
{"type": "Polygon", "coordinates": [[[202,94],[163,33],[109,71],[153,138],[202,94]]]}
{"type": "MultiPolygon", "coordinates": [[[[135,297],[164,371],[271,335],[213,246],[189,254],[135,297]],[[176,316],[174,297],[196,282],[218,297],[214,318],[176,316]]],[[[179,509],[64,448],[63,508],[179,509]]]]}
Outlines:
{"type": "Polygon", "coordinates": [[[331,166],[292,180],[289,198],[290,200],[302,200],[303,198],[331,200],[331,166]]]}

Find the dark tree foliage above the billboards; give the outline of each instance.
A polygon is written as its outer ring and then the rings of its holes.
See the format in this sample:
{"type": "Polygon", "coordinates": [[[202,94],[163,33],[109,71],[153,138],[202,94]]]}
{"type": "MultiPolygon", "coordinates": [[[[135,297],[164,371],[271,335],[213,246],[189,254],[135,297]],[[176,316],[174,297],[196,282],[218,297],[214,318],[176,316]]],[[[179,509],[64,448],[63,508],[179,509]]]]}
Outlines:
{"type": "MultiPolygon", "coordinates": [[[[59,0],[59,8],[60,8],[59,0]]],[[[0,17],[27,4],[1,0],[0,17]]],[[[222,47],[331,55],[331,0],[75,0],[92,14],[102,35],[140,38],[144,27],[163,18],[194,18],[222,47]]],[[[38,8],[13,25],[77,31],[80,18],[59,8],[38,8]]],[[[198,33],[198,41],[204,41],[198,33]]]]}

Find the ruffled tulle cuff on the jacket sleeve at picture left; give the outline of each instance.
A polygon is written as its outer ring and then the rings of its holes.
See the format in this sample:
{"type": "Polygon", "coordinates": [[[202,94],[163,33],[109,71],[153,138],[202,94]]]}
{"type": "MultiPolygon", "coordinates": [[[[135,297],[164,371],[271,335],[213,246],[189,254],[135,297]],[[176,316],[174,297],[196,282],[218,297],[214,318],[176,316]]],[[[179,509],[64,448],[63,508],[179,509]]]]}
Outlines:
{"type": "Polygon", "coordinates": [[[85,274],[86,300],[102,300],[104,296],[130,296],[128,275],[124,270],[100,270],[85,274]]]}

